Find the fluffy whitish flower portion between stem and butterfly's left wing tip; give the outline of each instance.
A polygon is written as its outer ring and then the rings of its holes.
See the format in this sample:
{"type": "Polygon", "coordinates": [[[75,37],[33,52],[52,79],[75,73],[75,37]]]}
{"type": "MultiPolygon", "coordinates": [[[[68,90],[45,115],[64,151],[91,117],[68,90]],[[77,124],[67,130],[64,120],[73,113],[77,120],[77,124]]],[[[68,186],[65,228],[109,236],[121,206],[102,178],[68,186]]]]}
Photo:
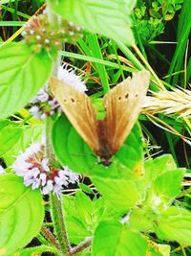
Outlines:
{"type": "Polygon", "coordinates": [[[58,79],[66,82],[70,86],[74,86],[80,92],[87,91],[85,82],[81,80],[81,76],[75,75],[74,71],[73,68],[68,69],[68,65],[65,63],[58,69],[58,79]]]}

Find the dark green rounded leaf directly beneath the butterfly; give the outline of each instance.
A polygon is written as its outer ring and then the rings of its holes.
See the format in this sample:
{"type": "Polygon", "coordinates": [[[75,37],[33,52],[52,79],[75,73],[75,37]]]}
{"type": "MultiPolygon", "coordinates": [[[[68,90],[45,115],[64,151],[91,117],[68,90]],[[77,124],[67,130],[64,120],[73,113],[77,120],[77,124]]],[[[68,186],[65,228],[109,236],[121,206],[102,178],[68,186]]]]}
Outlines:
{"type": "Polygon", "coordinates": [[[111,158],[112,164],[105,167],[99,163],[96,153],[83,141],[65,115],[53,124],[53,150],[62,165],[76,173],[90,176],[137,177],[142,170],[143,152],[141,131],[138,124],[132,129],[127,140],[111,158]]]}

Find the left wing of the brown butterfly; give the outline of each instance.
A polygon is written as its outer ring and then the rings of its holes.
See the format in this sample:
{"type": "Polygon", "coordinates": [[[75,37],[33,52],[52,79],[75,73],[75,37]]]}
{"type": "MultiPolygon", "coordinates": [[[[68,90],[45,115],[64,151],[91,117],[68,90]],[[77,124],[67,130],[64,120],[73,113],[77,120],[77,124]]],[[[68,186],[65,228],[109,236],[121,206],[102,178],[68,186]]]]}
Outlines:
{"type": "Polygon", "coordinates": [[[98,151],[96,110],[89,97],[56,78],[51,78],[50,86],[55,99],[76,131],[93,151],[98,151]]]}

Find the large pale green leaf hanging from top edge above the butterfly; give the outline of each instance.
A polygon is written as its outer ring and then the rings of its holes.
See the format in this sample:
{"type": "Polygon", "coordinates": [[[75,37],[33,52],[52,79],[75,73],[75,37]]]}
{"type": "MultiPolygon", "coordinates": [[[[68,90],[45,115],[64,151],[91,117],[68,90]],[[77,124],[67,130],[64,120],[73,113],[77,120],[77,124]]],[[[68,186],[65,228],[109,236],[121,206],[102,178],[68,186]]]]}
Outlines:
{"type": "Polygon", "coordinates": [[[53,11],[92,33],[124,43],[134,43],[130,13],[136,1],[58,0],[49,1],[53,11]]]}

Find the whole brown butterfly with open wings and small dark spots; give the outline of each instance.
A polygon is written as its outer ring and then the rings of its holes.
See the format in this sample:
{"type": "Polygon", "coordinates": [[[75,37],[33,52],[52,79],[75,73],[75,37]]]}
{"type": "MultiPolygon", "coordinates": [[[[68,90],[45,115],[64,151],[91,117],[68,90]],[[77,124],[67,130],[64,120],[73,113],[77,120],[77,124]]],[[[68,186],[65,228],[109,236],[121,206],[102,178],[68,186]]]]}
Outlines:
{"type": "Polygon", "coordinates": [[[120,149],[138,119],[150,82],[147,71],[128,77],[103,97],[105,118],[96,119],[96,109],[90,98],[72,85],[54,77],[50,86],[55,99],[67,118],[104,166],[120,149]]]}

